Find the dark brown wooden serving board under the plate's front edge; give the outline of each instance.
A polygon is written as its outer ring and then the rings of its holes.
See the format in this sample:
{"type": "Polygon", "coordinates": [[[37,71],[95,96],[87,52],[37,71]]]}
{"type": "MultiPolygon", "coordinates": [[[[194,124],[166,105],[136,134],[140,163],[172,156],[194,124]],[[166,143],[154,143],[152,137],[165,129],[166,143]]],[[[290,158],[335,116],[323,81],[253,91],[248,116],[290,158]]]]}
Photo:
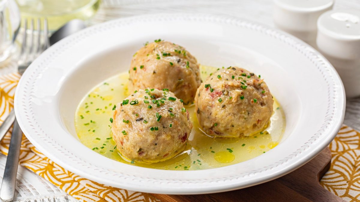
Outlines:
{"type": "Polygon", "coordinates": [[[270,182],[253,187],[215,194],[152,194],[161,201],[343,201],[321,187],[319,181],[329,170],[331,152],[327,147],[297,170],[270,182]]]}

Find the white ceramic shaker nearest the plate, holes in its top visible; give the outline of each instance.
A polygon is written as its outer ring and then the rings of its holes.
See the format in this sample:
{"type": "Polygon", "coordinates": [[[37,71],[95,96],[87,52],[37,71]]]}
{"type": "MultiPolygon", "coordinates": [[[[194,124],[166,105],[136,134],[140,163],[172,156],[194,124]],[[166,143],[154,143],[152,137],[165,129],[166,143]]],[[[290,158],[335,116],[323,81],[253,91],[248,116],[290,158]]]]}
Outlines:
{"type": "Polygon", "coordinates": [[[346,97],[360,95],[360,10],[332,10],[318,19],[319,51],[339,73],[346,97]]]}

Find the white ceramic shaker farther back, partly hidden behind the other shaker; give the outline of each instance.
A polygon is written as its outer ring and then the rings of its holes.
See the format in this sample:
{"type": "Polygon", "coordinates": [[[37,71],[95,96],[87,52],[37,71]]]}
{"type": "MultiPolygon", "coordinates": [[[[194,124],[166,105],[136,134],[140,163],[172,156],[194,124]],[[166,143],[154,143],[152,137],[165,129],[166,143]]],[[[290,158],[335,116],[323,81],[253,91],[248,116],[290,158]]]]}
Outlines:
{"type": "Polygon", "coordinates": [[[274,0],[275,26],[316,47],[316,22],[334,0],[274,0]]]}

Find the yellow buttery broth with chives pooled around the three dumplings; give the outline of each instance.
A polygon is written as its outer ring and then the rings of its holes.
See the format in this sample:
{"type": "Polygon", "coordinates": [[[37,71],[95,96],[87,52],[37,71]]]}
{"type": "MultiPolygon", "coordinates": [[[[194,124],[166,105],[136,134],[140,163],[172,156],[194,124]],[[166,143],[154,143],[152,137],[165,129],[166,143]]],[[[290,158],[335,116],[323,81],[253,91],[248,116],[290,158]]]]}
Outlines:
{"type": "MultiPolygon", "coordinates": [[[[215,68],[200,66],[202,79],[215,68]]],[[[75,115],[75,129],[80,141],[94,152],[126,164],[164,170],[201,170],[237,164],[259,156],[276,147],[285,129],[285,116],[279,103],[274,102],[270,124],[251,137],[213,138],[202,132],[196,118],[194,105],[186,106],[193,122],[193,130],[184,152],[173,159],[155,164],[139,164],[124,160],[116,151],[112,139],[113,106],[124,100],[129,74],[121,73],[95,86],[80,102],[75,115]]]]}

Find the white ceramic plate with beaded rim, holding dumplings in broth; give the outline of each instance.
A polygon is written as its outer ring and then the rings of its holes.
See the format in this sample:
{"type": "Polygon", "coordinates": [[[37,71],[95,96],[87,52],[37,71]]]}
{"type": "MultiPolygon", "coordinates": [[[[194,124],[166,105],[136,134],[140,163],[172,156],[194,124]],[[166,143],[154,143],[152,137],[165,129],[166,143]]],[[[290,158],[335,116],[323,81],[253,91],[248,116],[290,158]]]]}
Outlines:
{"type": "Polygon", "coordinates": [[[22,76],[15,114],[26,137],[80,176],[141,192],[195,194],[263,183],[305,164],[336,136],[345,112],[342,82],[328,61],[286,33],[245,20],[158,14],[89,27],[46,50],[22,76]],[[286,116],[282,142],[235,165],[170,171],[126,165],[78,141],[75,109],[95,84],[129,69],[146,41],[178,43],[210,66],[241,66],[265,78],[286,116]]]}

